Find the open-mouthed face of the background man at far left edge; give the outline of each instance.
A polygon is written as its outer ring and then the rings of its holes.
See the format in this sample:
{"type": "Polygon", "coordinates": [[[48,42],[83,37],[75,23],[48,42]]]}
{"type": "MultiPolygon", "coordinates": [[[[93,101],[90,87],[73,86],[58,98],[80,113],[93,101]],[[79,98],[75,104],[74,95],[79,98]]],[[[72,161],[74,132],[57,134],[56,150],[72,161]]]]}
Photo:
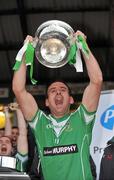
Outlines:
{"type": "Polygon", "coordinates": [[[12,144],[9,137],[3,136],[0,138],[0,155],[10,156],[12,152],[12,144]]]}

